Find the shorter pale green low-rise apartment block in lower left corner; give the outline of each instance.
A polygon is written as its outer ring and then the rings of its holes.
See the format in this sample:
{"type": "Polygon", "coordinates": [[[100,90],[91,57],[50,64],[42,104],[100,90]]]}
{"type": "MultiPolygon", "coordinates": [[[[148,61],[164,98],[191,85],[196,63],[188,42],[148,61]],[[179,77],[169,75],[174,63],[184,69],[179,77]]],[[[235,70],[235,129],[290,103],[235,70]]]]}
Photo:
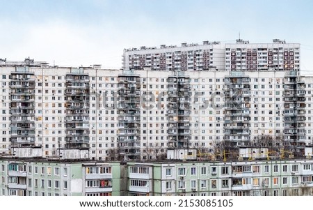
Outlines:
{"type": "Polygon", "coordinates": [[[0,195],[120,195],[119,162],[3,157],[0,165],[0,195]]]}

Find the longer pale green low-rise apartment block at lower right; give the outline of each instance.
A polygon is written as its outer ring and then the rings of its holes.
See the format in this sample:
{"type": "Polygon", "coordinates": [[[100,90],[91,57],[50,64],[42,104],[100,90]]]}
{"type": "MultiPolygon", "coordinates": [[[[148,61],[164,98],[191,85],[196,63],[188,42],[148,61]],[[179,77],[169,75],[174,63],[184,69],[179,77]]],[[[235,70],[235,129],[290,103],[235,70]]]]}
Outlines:
{"type": "Polygon", "coordinates": [[[127,195],[312,195],[312,159],[127,163],[127,195]]]}

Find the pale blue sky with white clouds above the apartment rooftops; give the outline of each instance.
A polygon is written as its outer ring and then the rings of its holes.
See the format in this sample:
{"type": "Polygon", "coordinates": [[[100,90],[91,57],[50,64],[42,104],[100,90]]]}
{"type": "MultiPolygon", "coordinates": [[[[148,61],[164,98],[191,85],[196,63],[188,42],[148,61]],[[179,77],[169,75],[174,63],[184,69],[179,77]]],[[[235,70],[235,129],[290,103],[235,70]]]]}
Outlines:
{"type": "Polygon", "coordinates": [[[0,58],[121,68],[131,47],[219,40],[301,44],[313,73],[313,1],[0,0],[0,58]]]}

